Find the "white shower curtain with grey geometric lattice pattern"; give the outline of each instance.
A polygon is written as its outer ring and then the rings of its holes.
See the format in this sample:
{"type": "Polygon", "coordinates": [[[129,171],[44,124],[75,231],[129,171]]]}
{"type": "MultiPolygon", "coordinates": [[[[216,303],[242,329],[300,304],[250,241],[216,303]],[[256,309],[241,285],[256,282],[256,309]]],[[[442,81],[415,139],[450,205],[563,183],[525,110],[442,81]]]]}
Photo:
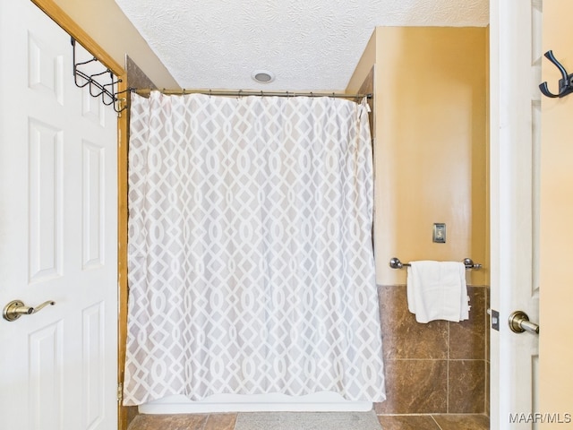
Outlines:
{"type": "Polygon", "coordinates": [[[365,103],[132,96],[124,404],[385,399],[365,103]]]}

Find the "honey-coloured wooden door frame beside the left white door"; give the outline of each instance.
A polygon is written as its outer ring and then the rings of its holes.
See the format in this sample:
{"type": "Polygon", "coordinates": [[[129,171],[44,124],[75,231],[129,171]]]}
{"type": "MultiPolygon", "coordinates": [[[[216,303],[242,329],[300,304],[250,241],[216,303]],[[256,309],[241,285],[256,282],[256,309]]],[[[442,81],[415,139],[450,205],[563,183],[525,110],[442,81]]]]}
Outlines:
{"type": "MultiPolygon", "coordinates": [[[[122,65],[98,45],[90,35],[73,21],[53,0],[30,0],[47,14],[92,56],[98,58],[112,73],[119,78],[118,90],[128,89],[127,73],[122,65]]],[[[126,99],[126,98],[125,98],[126,99]]],[[[126,106],[126,100],[121,102],[126,106]]],[[[125,340],[127,336],[127,111],[118,114],[117,118],[117,428],[127,428],[127,409],[122,406],[121,387],[124,382],[125,340]]]]}

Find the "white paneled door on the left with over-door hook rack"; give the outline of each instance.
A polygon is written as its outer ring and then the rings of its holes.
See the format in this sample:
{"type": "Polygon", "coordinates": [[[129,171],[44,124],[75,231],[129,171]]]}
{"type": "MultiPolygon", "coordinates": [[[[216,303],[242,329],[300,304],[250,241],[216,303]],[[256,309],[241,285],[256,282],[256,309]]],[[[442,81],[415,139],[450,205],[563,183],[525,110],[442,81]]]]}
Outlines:
{"type": "Polygon", "coordinates": [[[0,0],[0,428],[116,428],[117,118],[70,42],[0,0]]]}

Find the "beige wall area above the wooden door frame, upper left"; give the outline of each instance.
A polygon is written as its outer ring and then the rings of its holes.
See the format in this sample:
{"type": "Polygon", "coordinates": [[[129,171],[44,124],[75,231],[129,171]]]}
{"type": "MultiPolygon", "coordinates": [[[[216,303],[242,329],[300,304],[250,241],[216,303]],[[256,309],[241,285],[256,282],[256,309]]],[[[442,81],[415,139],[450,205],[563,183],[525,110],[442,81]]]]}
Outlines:
{"type": "Polygon", "coordinates": [[[158,88],[179,86],[114,0],[54,0],[118,64],[130,56],[158,88]]]}

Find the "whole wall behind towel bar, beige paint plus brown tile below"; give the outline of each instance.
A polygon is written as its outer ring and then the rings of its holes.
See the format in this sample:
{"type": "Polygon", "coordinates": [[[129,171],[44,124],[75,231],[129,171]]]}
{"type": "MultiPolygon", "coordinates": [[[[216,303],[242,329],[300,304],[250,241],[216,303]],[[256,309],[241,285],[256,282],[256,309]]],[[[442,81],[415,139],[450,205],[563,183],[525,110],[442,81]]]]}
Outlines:
{"type": "MultiPolygon", "coordinates": [[[[381,414],[483,414],[488,288],[471,287],[464,324],[415,322],[406,271],[389,259],[457,260],[489,267],[487,29],[377,28],[348,92],[374,65],[375,225],[388,399],[381,414]],[[432,243],[445,222],[446,244],[432,243]]],[[[489,283],[487,270],[468,273],[489,283]]]]}

